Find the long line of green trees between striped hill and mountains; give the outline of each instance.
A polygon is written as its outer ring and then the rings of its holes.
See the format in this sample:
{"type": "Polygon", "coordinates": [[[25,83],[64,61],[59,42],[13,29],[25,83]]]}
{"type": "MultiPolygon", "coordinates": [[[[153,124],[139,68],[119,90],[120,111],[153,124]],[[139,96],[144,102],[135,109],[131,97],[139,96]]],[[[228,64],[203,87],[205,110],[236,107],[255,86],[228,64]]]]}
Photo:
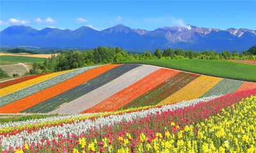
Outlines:
{"type": "Polygon", "coordinates": [[[134,60],[149,60],[149,59],[209,59],[209,60],[223,60],[223,59],[252,59],[256,57],[256,46],[249,50],[243,51],[240,54],[233,50],[230,53],[228,50],[220,54],[215,50],[205,50],[203,52],[195,52],[191,50],[182,50],[179,48],[165,48],[163,51],[156,48],[154,53],[148,50],[143,54],[132,54],[126,52],[122,47],[98,47],[92,50],[62,50],[57,56],[54,55],[56,51],[52,52],[51,58],[45,59],[44,62],[34,62],[33,68],[29,70],[28,74],[51,73],[55,71],[65,71],[67,69],[82,68],[85,66],[92,66],[95,64],[107,64],[121,61],[134,60]]]}

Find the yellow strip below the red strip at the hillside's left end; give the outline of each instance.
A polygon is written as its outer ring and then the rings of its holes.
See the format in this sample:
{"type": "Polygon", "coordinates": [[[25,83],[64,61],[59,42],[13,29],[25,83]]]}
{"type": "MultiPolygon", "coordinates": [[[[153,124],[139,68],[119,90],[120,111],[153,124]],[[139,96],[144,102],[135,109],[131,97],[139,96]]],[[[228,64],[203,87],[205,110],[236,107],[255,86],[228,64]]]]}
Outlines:
{"type": "MultiPolygon", "coordinates": [[[[72,70],[68,70],[68,71],[72,71],[72,70]]],[[[24,82],[20,82],[19,84],[10,85],[8,87],[0,89],[0,93],[1,93],[0,96],[4,96],[6,94],[10,94],[12,92],[19,91],[21,89],[24,89],[24,88],[29,87],[31,85],[38,84],[40,82],[43,82],[43,81],[48,80],[50,78],[56,77],[58,75],[66,73],[68,71],[60,71],[60,72],[56,72],[56,73],[50,73],[48,75],[43,75],[43,76],[40,76],[40,77],[37,77],[37,78],[26,80],[24,82]]]]}

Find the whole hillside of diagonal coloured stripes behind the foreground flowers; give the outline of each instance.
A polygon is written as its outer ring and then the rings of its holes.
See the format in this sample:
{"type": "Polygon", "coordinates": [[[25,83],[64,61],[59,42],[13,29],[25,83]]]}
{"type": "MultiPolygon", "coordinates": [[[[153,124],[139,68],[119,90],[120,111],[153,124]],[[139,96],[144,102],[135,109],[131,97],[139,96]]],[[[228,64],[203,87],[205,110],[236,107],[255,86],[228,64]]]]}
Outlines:
{"type": "Polygon", "coordinates": [[[111,64],[1,83],[0,113],[92,113],[165,105],[256,88],[256,83],[141,64],[111,64]]]}

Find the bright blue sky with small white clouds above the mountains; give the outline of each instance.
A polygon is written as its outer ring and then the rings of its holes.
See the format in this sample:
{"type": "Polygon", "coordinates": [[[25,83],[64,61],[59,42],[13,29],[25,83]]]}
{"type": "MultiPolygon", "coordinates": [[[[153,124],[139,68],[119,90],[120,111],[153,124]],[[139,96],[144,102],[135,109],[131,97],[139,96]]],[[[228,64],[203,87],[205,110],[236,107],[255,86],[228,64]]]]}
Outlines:
{"type": "Polygon", "coordinates": [[[10,25],[35,29],[95,29],[124,24],[132,29],[184,26],[256,30],[256,1],[7,1],[1,0],[2,31],[10,25]]]}

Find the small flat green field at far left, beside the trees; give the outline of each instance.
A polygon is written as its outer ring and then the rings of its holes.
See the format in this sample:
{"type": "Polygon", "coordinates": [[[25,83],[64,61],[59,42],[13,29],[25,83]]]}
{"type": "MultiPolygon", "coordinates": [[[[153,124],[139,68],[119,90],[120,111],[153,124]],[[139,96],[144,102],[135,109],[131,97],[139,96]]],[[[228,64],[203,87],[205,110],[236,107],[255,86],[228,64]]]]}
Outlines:
{"type": "Polygon", "coordinates": [[[9,61],[9,62],[44,62],[44,60],[45,60],[45,58],[40,58],[40,57],[0,55],[0,61],[9,61]]]}

